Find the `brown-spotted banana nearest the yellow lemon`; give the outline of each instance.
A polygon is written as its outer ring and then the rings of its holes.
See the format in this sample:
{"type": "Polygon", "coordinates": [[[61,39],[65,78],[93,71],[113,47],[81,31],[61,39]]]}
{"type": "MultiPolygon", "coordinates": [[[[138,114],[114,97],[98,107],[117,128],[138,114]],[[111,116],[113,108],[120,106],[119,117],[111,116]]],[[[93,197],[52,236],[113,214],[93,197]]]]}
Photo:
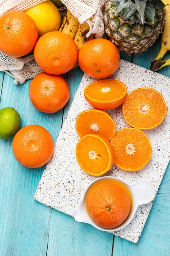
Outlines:
{"type": "Polygon", "coordinates": [[[58,31],[63,32],[74,39],[77,33],[78,26],[79,22],[77,18],[75,18],[67,9],[67,13],[58,31]]]}

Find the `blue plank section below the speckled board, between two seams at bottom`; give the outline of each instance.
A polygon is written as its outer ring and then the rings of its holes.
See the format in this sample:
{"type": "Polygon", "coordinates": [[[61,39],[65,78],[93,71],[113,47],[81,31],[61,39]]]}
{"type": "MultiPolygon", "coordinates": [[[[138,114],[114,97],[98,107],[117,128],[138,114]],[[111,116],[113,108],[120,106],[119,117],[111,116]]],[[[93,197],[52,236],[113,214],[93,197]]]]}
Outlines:
{"type": "Polygon", "coordinates": [[[113,235],[52,211],[47,256],[111,256],[113,235]]]}

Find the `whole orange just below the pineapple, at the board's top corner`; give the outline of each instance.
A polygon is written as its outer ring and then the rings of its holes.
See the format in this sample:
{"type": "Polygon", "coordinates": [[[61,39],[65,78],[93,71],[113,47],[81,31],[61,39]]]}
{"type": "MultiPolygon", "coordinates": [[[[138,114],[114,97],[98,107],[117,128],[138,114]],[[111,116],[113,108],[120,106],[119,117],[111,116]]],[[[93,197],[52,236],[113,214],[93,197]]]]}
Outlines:
{"type": "Polygon", "coordinates": [[[111,76],[119,67],[119,62],[118,48],[103,38],[90,40],[79,50],[79,67],[93,78],[111,76]]]}

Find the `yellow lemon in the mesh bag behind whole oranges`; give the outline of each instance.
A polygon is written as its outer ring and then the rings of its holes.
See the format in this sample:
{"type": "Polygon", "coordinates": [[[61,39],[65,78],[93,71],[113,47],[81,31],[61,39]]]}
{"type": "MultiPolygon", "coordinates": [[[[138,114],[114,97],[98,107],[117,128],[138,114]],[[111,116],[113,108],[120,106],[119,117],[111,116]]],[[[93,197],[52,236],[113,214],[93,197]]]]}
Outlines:
{"type": "Polygon", "coordinates": [[[60,27],[60,13],[50,0],[39,3],[25,12],[35,21],[39,37],[48,32],[57,31],[60,27]]]}

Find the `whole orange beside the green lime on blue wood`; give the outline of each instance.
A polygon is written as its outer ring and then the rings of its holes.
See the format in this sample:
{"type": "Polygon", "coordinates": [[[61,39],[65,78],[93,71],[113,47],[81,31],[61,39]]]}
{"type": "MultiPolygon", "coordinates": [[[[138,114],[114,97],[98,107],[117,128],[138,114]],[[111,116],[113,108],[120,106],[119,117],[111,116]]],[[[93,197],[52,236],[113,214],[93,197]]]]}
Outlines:
{"type": "Polygon", "coordinates": [[[40,125],[20,129],[12,142],[14,157],[23,166],[38,168],[52,157],[54,143],[51,134],[40,125]]]}

